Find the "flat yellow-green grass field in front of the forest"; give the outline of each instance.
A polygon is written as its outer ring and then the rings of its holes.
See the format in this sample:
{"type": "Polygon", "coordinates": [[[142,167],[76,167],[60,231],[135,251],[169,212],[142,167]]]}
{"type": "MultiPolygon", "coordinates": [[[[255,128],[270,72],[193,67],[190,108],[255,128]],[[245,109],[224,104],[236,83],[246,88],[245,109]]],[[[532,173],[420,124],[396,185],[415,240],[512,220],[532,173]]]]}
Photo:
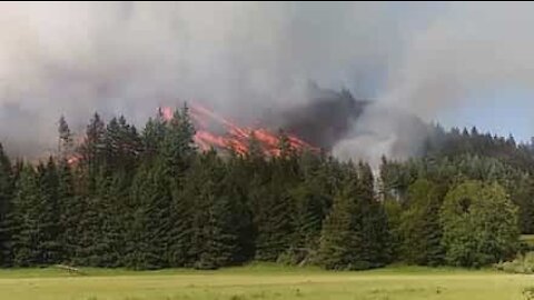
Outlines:
{"type": "Polygon", "coordinates": [[[457,269],[387,268],[327,272],[315,268],[255,264],[219,271],[132,272],[85,269],[0,270],[6,300],[178,300],[178,299],[335,299],[335,300],[506,300],[527,299],[534,277],[457,269]]]}

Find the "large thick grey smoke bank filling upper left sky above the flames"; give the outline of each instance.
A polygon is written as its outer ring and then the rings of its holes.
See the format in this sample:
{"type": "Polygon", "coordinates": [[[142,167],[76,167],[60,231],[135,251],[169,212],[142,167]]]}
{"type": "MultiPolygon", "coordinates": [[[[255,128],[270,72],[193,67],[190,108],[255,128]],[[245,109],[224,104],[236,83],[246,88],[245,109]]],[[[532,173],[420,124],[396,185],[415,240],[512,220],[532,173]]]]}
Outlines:
{"type": "Polygon", "coordinates": [[[142,123],[160,104],[199,100],[250,120],[305,102],[309,79],[332,88],[375,82],[396,37],[390,6],[375,3],[0,10],[0,140],[23,154],[53,149],[60,114],[82,130],[95,110],[142,123]]]}

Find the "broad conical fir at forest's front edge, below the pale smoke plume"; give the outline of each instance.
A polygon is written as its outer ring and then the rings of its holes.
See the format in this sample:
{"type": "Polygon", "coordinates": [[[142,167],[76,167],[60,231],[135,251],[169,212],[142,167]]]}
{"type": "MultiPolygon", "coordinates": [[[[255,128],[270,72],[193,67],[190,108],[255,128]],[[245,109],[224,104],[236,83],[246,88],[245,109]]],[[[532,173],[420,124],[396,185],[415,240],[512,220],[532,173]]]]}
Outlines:
{"type": "Polygon", "coordinates": [[[362,270],[390,260],[387,214],[377,202],[368,164],[344,166],[345,179],[325,219],[318,261],[328,269],[362,270]]]}

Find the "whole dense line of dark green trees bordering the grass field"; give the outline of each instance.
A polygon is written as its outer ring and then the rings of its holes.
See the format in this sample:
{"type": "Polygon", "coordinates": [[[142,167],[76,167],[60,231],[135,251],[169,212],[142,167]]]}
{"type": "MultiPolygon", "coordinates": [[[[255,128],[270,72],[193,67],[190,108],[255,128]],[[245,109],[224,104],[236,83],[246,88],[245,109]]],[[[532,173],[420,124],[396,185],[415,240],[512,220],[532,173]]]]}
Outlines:
{"type": "Polygon", "coordinates": [[[0,144],[0,266],[478,267],[514,256],[533,230],[530,170],[508,157],[434,139],[424,157],[384,158],[373,172],[294,149],[283,131],[276,157],[254,134],[246,154],[199,151],[194,136],[184,107],[140,131],[96,113],[81,144],[61,118],[59,153],[37,166],[0,144]]]}

